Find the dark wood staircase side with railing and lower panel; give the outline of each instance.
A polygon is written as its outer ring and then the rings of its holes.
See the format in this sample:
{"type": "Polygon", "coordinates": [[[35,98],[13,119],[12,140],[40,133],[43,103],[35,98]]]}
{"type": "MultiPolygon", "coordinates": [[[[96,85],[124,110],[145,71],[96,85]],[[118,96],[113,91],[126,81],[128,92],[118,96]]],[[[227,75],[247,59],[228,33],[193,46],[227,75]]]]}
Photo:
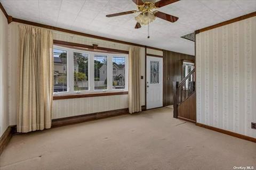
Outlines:
{"type": "Polygon", "coordinates": [[[181,82],[173,82],[173,117],[196,123],[195,69],[181,82]]]}

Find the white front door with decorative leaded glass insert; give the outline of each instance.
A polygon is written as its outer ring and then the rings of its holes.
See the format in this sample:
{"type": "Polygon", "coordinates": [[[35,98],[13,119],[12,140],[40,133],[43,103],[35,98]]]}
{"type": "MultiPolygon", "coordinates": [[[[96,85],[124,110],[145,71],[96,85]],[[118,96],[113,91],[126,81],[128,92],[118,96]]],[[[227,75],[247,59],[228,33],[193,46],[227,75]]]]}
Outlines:
{"type": "Polygon", "coordinates": [[[147,56],[147,109],[163,106],[163,58],[147,56]]]}

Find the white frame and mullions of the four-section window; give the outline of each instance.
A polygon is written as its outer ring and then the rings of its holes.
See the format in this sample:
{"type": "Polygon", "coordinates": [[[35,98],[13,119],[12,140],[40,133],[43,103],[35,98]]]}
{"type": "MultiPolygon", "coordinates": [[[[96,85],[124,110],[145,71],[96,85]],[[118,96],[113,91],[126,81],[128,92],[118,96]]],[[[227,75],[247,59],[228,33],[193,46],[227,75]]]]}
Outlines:
{"type": "Polygon", "coordinates": [[[90,52],[86,50],[73,49],[68,47],[62,47],[53,45],[53,48],[66,50],[67,51],[67,91],[63,92],[54,92],[54,96],[58,95],[71,95],[71,94],[90,94],[98,92],[117,92],[117,91],[128,91],[129,84],[129,55],[128,54],[110,54],[110,53],[101,53],[101,52],[90,52]],[[89,90],[74,90],[74,52],[85,53],[89,55],[89,90]],[[107,56],[107,89],[106,90],[94,90],[94,55],[105,55],[107,56]],[[125,88],[124,89],[113,89],[113,57],[125,57],[125,88]],[[110,74],[111,73],[111,74],[110,74]]]}

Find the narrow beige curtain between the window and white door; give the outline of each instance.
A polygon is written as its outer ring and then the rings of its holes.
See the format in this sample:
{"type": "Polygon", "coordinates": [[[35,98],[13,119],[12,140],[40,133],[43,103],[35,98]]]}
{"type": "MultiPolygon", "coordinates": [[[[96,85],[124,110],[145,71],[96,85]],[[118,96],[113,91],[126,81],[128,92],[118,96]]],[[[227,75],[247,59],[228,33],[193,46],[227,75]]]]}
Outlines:
{"type": "Polygon", "coordinates": [[[140,47],[129,50],[129,113],[141,112],[140,47]]]}

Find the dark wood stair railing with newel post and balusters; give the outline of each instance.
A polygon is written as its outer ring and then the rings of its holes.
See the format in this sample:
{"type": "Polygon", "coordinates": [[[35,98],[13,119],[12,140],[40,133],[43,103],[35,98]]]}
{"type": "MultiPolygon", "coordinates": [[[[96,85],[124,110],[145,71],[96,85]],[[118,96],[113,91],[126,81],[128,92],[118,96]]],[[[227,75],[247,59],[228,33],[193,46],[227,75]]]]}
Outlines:
{"type": "Polygon", "coordinates": [[[181,82],[173,82],[173,117],[178,117],[178,106],[195,91],[195,69],[192,70],[181,82]]]}

